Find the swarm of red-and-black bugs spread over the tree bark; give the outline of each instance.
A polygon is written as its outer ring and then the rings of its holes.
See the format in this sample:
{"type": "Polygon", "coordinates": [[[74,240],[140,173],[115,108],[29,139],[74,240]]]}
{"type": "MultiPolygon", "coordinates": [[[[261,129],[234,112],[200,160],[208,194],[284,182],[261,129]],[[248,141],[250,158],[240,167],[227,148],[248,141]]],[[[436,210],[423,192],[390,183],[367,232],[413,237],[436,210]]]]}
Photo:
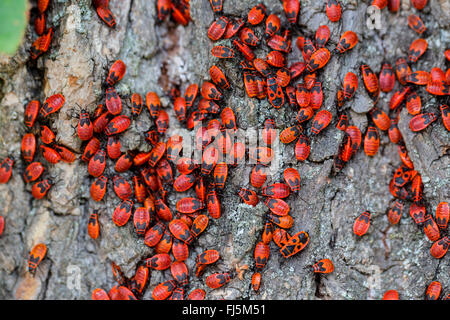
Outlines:
{"type": "MultiPolygon", "coordinates": [[[[411,2],[417,10],[421,10],[427,1],[411,2]]],[[[103,22],[114,28],[116,21],[109,9],[109,1],[94,0],[92,3],[103,22]]],[[[359,41],[358,35],[351,30],[345,31],[337,45],[329,49],[327,46],[329,47],[330,29],[327,25],[321,25],[314,37],[297,36],[295,45],[300,50],[303,61],[296,61],[288,66],[292,37],[297,31],[300,16],[298,0],[282,1],[288,20],[288,25],[285,26],[280,17],[269,14],[262,3],[253,7],[246,18],[223,15],[222,0],[210,0],[210,4],[216,19],[207,31],[208,37],[213,42],[230,39],[233,44],[233,48],[225,45],[214,46],[211,50],[212,56],[219,61],[242,57],[239,66],[248,97],[267,99],[275,110],[286,104],[295,110],[295,124],[283,129],[279,140],[283,144],[295,142],[297,161],[306,161],[310,155],[311,139],[324,134],[333,120],[332,113],[322,108],[324,93],[320,80],[321,72],[334,56],[343,55],[354,48],[359,41]],[[264,58],[259,58],[254,51],[263,44],[270,48],[269,53],[264,58]]],[[[372,5],[379,10],[385,7],[391,12],[399,10],[399,1],[395,0],[375,0],[372,5]]],[[[48,1],[38,1],[39,16],[35,19],[35,30],[40,38],[33,43],[33,59],[47,51],[53,34],[52,28],[45,33],[44,13],[47,6],[48,1]]],[[[187,0],[157,0],[156,9],[159,21],[171,16],[175,23],[185,26],[191,19],[187,0]]],[[[340,21],[342,8],[339,1],[326,1],[325,10],[331,23],[340,21]]],[[[333,174],[343,169],[357,153],[361,143],[367,156],[375,156],[380,146],[380,131],[387,132],[390,141],[398,145],[402,162],[389,183],[389,191],[395,201],[388,209],[388,220],[393,225],[397,224],[405,202],[409,202],[410,216],[433,242],[431,255],[440,259],[445,256],[450,245],[447,236],[449,205],[447,202],[439,203],[434,218],[430,213],[426,213],[427,203],[423,198],[422,178],[420,173],[414,170],[414,164],[408,156],[397,125],[403,105],[406,105],[408,113],[413,116],[409,122],[411,131],[425,130],[439,115],[444,127],[450,130],[448,105],[442,103],[440,113],[424,112],[421,97],[417,93],[418,86],[425,86],[429,94],[444,99],[450,94],[450,72],[447,70],[444,73],[439,68],[430,71],[414,70],[414,64],[426,53],[428,47],[425,39],[427,28],[415,14],[408,17],[408,25],[424,37],[412,42],[408,57],[398,58],[395,67],[387,61],[384,62],[378,75],[364,63],[359,66],[360,76],[354,72],[345,75],[335,100],[336,114],[339,117],[336,119],[336,128],[343,132],[343,138],[334,156],[333,174]],[[374,102],[367,113],[368,127],[364,137],[361,130],[351,124],[346,106],[347,102],[354,98],[360,79],[374,102]],[[397,81],[401,87],[390,99],[388,114],[382,107],[377,106],[377,102],[380,91],[392,92],[397,81]]],[[[445,56],[450,61],[449,50],[445,52],[445,56]]],[[[298,170],[294,167],[286,168],[283,171],[283,182],[264,186],[268,167],[275,156],[271,149],[272,143],[278,138],[275,121],[268,118],[264,122],[261,137],[265,146],[247,150],[245,144],[235,142],[233,134],[237,130],[236,116],[232,108],[223,106],[224,97],[229,94],[231,86],[226,77],[227,70],[218,65],[210,67],[210,81],[204,81],[201,86],[196,83],[188,85],[184,95],[176,88],[169,94],[177,121],[186,129],[195,132],[195,147],[202,153],[200,163],[189,155],[182,154],[182,136],[165,136],[170,118],[156,92],[148,92],[145,102],[139,93],[133,93],[129,99],[131,117],[125,114],[128,110],[123,108],[122,98],[115,89],[115,85],[126,74],[126,64],[122,60],[114,62],[109,69],[105,81],[104,105],[99,104],[93,114],[84,109],[80,110],[76,132],[83,146],[80,158],[87,165],[89,176],[92,177],[92,200],[103,201],[108,185],[112,182],[114,194],[121,201],[112,213],[112,221],[117,227],[123,227],[132,220],[136,235],[142,237],[145,245],[154,250],[153,255],[142,258],[137,263],[132,277],[127,277],[120,266],[112,262],[117,285],[108,292],[101,288],[95,289],[92,299],[140,299],[148,286],[152,269],[170,269],[173,277],[153,289],[153,299],[180,300],[184,299],[185,295],[187,299],[204,299],[206,292],[203,289],[193,289],[189,294],[185,294],[185,290],[190,288],[189,275],[202,277],[208,266],[219,261],[220,252],[209,249],[199,254],[192,272],[185,261],[198,238],[207,229],[210,218],[221,218],[221,193],[227,178],[231,170],[245,160],[247,154],[257,162],[252,168],[249,182],[258,191],[241,188],[237,194],[250,206],[256,206],[259,198],[264,197],[264,204],[268,208],[263,232],[254,249],[254,272],[251,279],[253,290],[257,292],[260,288],[262,270],[270,256],[271,241],[279,247],[280,254],[286,259],[298,254],[308,245],[308,232],[299,231],[293,235],[288,232],[294,220],[285,199],[292,193],[298,193],[301,188],[298,170]],[[133,121],[145,112],[144,105],[152,120],[151,128],[143,132],[151,150],[122,152],[119,138],[130,128],[133,121]],[[230,158],[231,162],[226,161],[230,158]],[[132,177],[131,183],[125,176],[132,177]],[[192,192],[195,196],[180,198],[174,211],[167,201],[171,192],[192,192]]],[[[55,94],[47,98],[42,107],[39,101],[33,100],[25,110],[24,121],[29,132],[23,136],[21,152],[23,160],[29,165],[23,177],[25,182],[34,183],[31,193],[35,199],[44,198],[54,184],[51,178],[42,178],[45,161],[57,164],[59,161],[70,163],[76,160],[71,150],[56,142],[56,134],[51,130],[51,114],[60,110],[64,103],[64,96],[55,94]],[[39,133],[36,124],[39,124],[39,133]],[[40,138],[42,158],[38,154],[35,155],[38,147],[36,136],[40,138]]],[[[8,182],[13,164],[12,157],[1,162],[0,183],[8,182]]],[[[99,213],[99,210],[93,210],[89,216],[87,230],[92,239],[97,239],[101,233],[99,213]]],[[[370,220],[370,212],[360,214],[353,225],[354,234],[359,237],[365,235],[370,228],[370,220]]],[[[4,218],[0,216],[0,235],[4,226],[4,218]]],[[[44,244],[38,244],[32,249],[29,257],[30,272],[36,270],[46,253],[47,247],[44,244]]],[[[235,270],[209,274],[205,277],[205,284],[211,289],[217,289],[236,276],[242,280],[242,273],[246,269],[246,265],[236,266],[235,270]]],[[[330,259],[321,259],[311,266],[311,270],[317,274],[330,273],[334,271],[334,265],[330,259]]],[[[441,284],[434,281],[427,289],[426,299],[437,299],[440,292],[441,284]]],[[[395,290],[389,290],[383,299],[399,299],[399,294],[395,290]]]]}

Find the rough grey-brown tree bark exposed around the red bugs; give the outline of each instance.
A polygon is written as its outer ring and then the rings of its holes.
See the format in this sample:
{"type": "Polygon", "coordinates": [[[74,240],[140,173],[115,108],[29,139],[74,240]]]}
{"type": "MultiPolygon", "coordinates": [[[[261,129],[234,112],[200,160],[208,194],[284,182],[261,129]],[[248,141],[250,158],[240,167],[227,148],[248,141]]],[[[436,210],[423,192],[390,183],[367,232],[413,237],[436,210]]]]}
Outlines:
{"type": "MultiPolygon", "coordinates": [[[[224,105],[234,109],[240,128],[261,128],[269,116],[275,119],[279,129],[295,122],[294,110],[289,107],[275,110],[268,101],[247,97],[238,59],[224,62],[211,56],[213,45],[231,46],[231,42],[222,40],[213,44],[208,39],[207,29],[214,19],[208,0],[190,1],[192,22],[185,28],[172,22],[157,23],[154,1],[111,1],[111,10],[117,19],[115,30],[98,19],[90,2],[52,1],[48,21],[55,27],[54,41],[49,53],[37,62],[31,61],[28,53],[34,37],[31,25],[19,52],[12,58],[0,59],[0,83],[3,85],[0,92],[0,158],[13,155],[17,160],[10,182],[0,185],[0,214],[6,218],[6,229],[0,238],[2,299],[89,299],[93,289],[109,290],[115,284],[109,265],[111,260],[131,276],[137,261],[153,252],[135,235],[132,223],[123,228],[113,224],[111,215],[119,200],[112,192],[101,203],[90,199],[92,180],[86,165],[79,160],[73,164],[47,165],[47,175],[57,183],[46,199],[32,198],[30,186],[22,178],[26,164],[20,157],[21,137],[26,132],[24,108],[30,100],[43,102],[55,93],[66,97],[64,108],[52,117],[51,128],[58,133],[59,143],[79,153],[80,140],[72,129],[77,120],[72,117],[71,110],[79,105],[93,111],[104,99],[102,83],[109,66],[122,59],[127,65],[127,73],[117,86],[119,94],[125,98],[133,92],[142,95],[148,91],[157,92],[171,115],[167,132],[170,136],[181,127],[166,95],[169,82],[179,84],[184,92],[189,83],[201,84],[208,80],[209,67],[218,64],[226,70],[233,88],[226,94],[224,105]],[[86,231],[87,219],[93,209],[100,209],[101,236],[97,241],[90,239],[86,231]],[[29,250],[38,242],[47,244],[48,256],[32,277],[26,270],[26,261],[29,250]],[[76,285],[78,275],[79,287],[76,285]]],[[[224,14],[242,16],[258,2],[225,0],[224,14]]],[[[286,23],[281,2],[262,2],[267,5],[268,12],[279,14],[286,23]]],[[[362,62],[378,73],[383,60],[394,64],[397,57],[407,55],[409,44],[418,37],[407,25],[408,15],[417,13],[409,6],[398,14],[384,9],[382,28],[369,30],[366,26],[368,2],[341,1],[341,21],[331,23],[325,15],[325,1],[301,1],[300,34],[313,37],[317,27],[327,24],[331,30],[327,45],[330,49],[346,30],[354,30],[360,38],[353,50],[334,55],[320,72],[325,96],[323,108],[334,118],[330,127],[312,140],[309,159],[296,163],[292,161],[294,144],[280,146],[281,168],[293,165],[302,178],[300,193],[287,200],[294,217],[291,234],[308,231],[311,237],[308,247],[286,260],[272,243],[258,294],[249,289],[251,271],[244,273],[243,280],[236,278],[214,291],[206,287],[204,278],[197,279],[191,274],[190,289],[204,288],[209,299],[380,299],[389,289],[398,290],[402,299],[422,299],[426,286],[438,280],[444,292],[450,290],[449,254],[441,260],[431,257],[431,242],[409,217],[409,205],[406,205],[400,223],[389,225],[386,210],[392,196],[388,183],[393,170],[400,165],[400,159],[397,146],[389,142],[386,133],[381,133],[381,146],[375,157],[369,158],[360,150],[342,173],[329,177],[332,157],[342,138],[342,133],[334,127],[337,121],[335,96],[344,75],[349,71],[358,74],[362,62]],[[357,215],[366,210],[373,214],[372,226],[367,235],[357,238],[352,233],[352,225],[357,215]],[[335,271],[315,277],[309,266],[322,258],[332,259],[335,271]]],[[[449,14],[450,4],[445,0],[429,1],[420,12],[430,35],[428,51],[415,65],[417,70],[432,67],[445,70],[448,66],[443,52],[450,42],[449,14]]],[[[290,61],[302,60],[301,53],[295,45],[293,47],[290,61]]],[[[265,57],[266,51],[266,48],[260,48],[255,53],[265,57]]],[[[436,99],[423,89],[419,93],[424,109],[436,111],[436,99]]],[[[385,111],[388,111],[391,95],[381,94],[378,106],[385,111]]],[[[129,106],[129,99],[124,101],[129,106]]],[[[351,121],[364,133],[367,127],[365,112],[370,109],[371,101],[362,82],[350,105],[351,121]]],[[[129,113],[129,109],[125,109],[129,113]]],[[[414,134],[409,130],[411,116],[406,110],[400,118],[399,127],[409,155],[423,177],[427,210],[434,213],[440,201],[449,199],[448,131],[438,120],[424,132],[414,134]]],[[[139,133],[148,129],[149,123],[147,112],[133,122],[130,130],[120,138],[122,151],[149,150],[139,133]]],[[[113,172],[112,167],[108,170],[113,172]]],[[[187,261],[190,270],[198,253],[213,248],[221,252],[222,258],[220,263],[208,269],[206,275],[234,268],[235,264],[253,266],[253,249],[267,208],[263,203],[256,208],[249,207],[237,196],[240,187],[249,185],[250,170],[251,166],[231,170],[222,196],[223,217],[211,222],[191,250],[187,261]]],[[[280,179],[281,169],[268,182],[280,179]]],[[[173,195],[169,197],[172,208],[176,200],[173,195]]],[[[170,278],[170,270],[152,272],[144,298],[151,298],[154,286],[170,278]]]]}

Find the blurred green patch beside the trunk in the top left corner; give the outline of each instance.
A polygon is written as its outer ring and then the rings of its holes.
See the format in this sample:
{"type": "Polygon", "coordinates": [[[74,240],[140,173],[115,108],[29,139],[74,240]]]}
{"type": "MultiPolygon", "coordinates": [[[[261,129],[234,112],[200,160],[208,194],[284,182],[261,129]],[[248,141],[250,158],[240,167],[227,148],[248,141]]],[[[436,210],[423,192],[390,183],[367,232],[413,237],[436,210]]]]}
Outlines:
{"type": "Polygon", "coordinates": [[[0,52],[13,55],[27,26],[27,0],[0,0],[0,52]]]}

